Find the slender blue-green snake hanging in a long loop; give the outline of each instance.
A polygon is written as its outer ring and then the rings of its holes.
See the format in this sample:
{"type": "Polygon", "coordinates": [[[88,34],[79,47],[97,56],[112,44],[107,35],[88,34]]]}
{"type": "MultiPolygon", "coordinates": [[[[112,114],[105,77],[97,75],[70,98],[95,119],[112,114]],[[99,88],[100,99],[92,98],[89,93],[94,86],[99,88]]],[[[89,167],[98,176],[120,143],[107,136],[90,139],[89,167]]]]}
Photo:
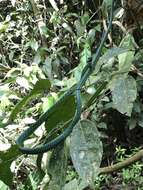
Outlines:
{"type": "Polygon", "coordinates": [[[81,117],[82,113],[82,103],[81,103],[81,89],[91,73],[93,72],[95,65],[97,61],[100,58],[101,55],[101,50],[104,45],[104,42],[107,39],[107,35],[110,31],[110,28],[112,26],[112,19],[113,19],[113,3],[114,0],[112,0],[112,5],[111,5],[111,13],[110,13],[110,20],[108,24],[107,31],[103,34],[101,43],[95,53],[95,55],[92,57],[92,61],[84,67],[81,78],[79,82],[72,86],[63,96],[60,97],[60,99],[49,109],[47,110],[41,117],[32,125],[29,126],[28,129],[26,129],[16,140],[16,144],[18,145],[20,151],[23,154],[42,154],[44,152],[47,152],[53,148],[55,148],[58,144],[60,144],[62,141],[64,141],[72,132],[74,126],[78,123],[81,117]],[[29,147],[24,147],[24,141],[29,138],[29,136],[43,123],[47,120],[47,117],[52,113],[53,109],[58,106],[61,102],[65,100],[65,98],[71,96],[72,94],[75,94],[76,98],[76,112],[75,115],[69,124],[69,126],[61,133],[59,136],[57,136],[55,139],[46,142],[41,145],[37,145],[36,147],[29,148],[29,147]]]}

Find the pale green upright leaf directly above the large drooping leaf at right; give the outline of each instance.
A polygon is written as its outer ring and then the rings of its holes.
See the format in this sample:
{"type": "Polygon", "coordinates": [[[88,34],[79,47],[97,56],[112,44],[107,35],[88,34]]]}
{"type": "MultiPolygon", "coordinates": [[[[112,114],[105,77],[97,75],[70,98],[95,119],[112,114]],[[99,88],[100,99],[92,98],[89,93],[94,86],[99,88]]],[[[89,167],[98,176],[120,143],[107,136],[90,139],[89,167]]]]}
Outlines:
{"type": "Polygon", "coordinates": [[[125,38],[122,40],[120,46],[123,48],[128,48],[129,51],[123,54],[120,54],[118,56],[119,70],[129,72],[132,65],[132,61],[134,60],[134,54],[135,54],[134,39],[132,35],[130,34],[126,35],[125,38]]]}

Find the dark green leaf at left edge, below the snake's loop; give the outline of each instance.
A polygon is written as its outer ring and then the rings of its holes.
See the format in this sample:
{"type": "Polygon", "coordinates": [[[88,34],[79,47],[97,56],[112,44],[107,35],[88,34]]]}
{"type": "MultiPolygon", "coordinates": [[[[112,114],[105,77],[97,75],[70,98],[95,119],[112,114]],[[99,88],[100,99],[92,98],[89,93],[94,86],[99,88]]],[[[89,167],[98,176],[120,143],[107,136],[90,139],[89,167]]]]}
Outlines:
{"type": "Polygon", "coordinates": [[[13,173],[10,170],[11,163],[21,155],[16,145],[11,146],[7,151],[0,152],[0,180],[11,187],[13,173]]]}

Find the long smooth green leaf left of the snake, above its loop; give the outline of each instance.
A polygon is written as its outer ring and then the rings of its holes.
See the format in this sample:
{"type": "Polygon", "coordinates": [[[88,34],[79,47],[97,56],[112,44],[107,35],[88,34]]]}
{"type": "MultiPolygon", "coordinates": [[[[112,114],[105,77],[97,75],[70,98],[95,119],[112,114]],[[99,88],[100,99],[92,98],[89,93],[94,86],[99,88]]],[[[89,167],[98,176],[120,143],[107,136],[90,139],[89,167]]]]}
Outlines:
{"type": "Polygon", "coordinates": [[[41,92],[45,90],[50,89],[50,82],[47,79],[41,79],[36,82],[34,85],[34,88],[31,90],[31,92],[25,96],[13,109],[11,112],[11,115],[9,117],[8,123],[12,122],[16,117],[17,114],[20,112],[21,108],[25,106],[34,96],[40,94],[41,92]]]}

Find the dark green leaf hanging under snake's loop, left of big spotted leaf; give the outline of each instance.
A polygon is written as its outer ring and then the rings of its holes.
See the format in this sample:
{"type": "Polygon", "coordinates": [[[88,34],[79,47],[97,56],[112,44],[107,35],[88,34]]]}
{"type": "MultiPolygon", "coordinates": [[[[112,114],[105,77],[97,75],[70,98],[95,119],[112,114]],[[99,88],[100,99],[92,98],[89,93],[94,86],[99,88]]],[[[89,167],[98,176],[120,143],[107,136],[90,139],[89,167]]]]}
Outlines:
{"type": "Polygon", "coordinates": [[[59,144],[52,152],[48,163],[50,183],[47,189],[61,190],[65,185],[67,172],[67,148],[64,143],[59,144]]]}

